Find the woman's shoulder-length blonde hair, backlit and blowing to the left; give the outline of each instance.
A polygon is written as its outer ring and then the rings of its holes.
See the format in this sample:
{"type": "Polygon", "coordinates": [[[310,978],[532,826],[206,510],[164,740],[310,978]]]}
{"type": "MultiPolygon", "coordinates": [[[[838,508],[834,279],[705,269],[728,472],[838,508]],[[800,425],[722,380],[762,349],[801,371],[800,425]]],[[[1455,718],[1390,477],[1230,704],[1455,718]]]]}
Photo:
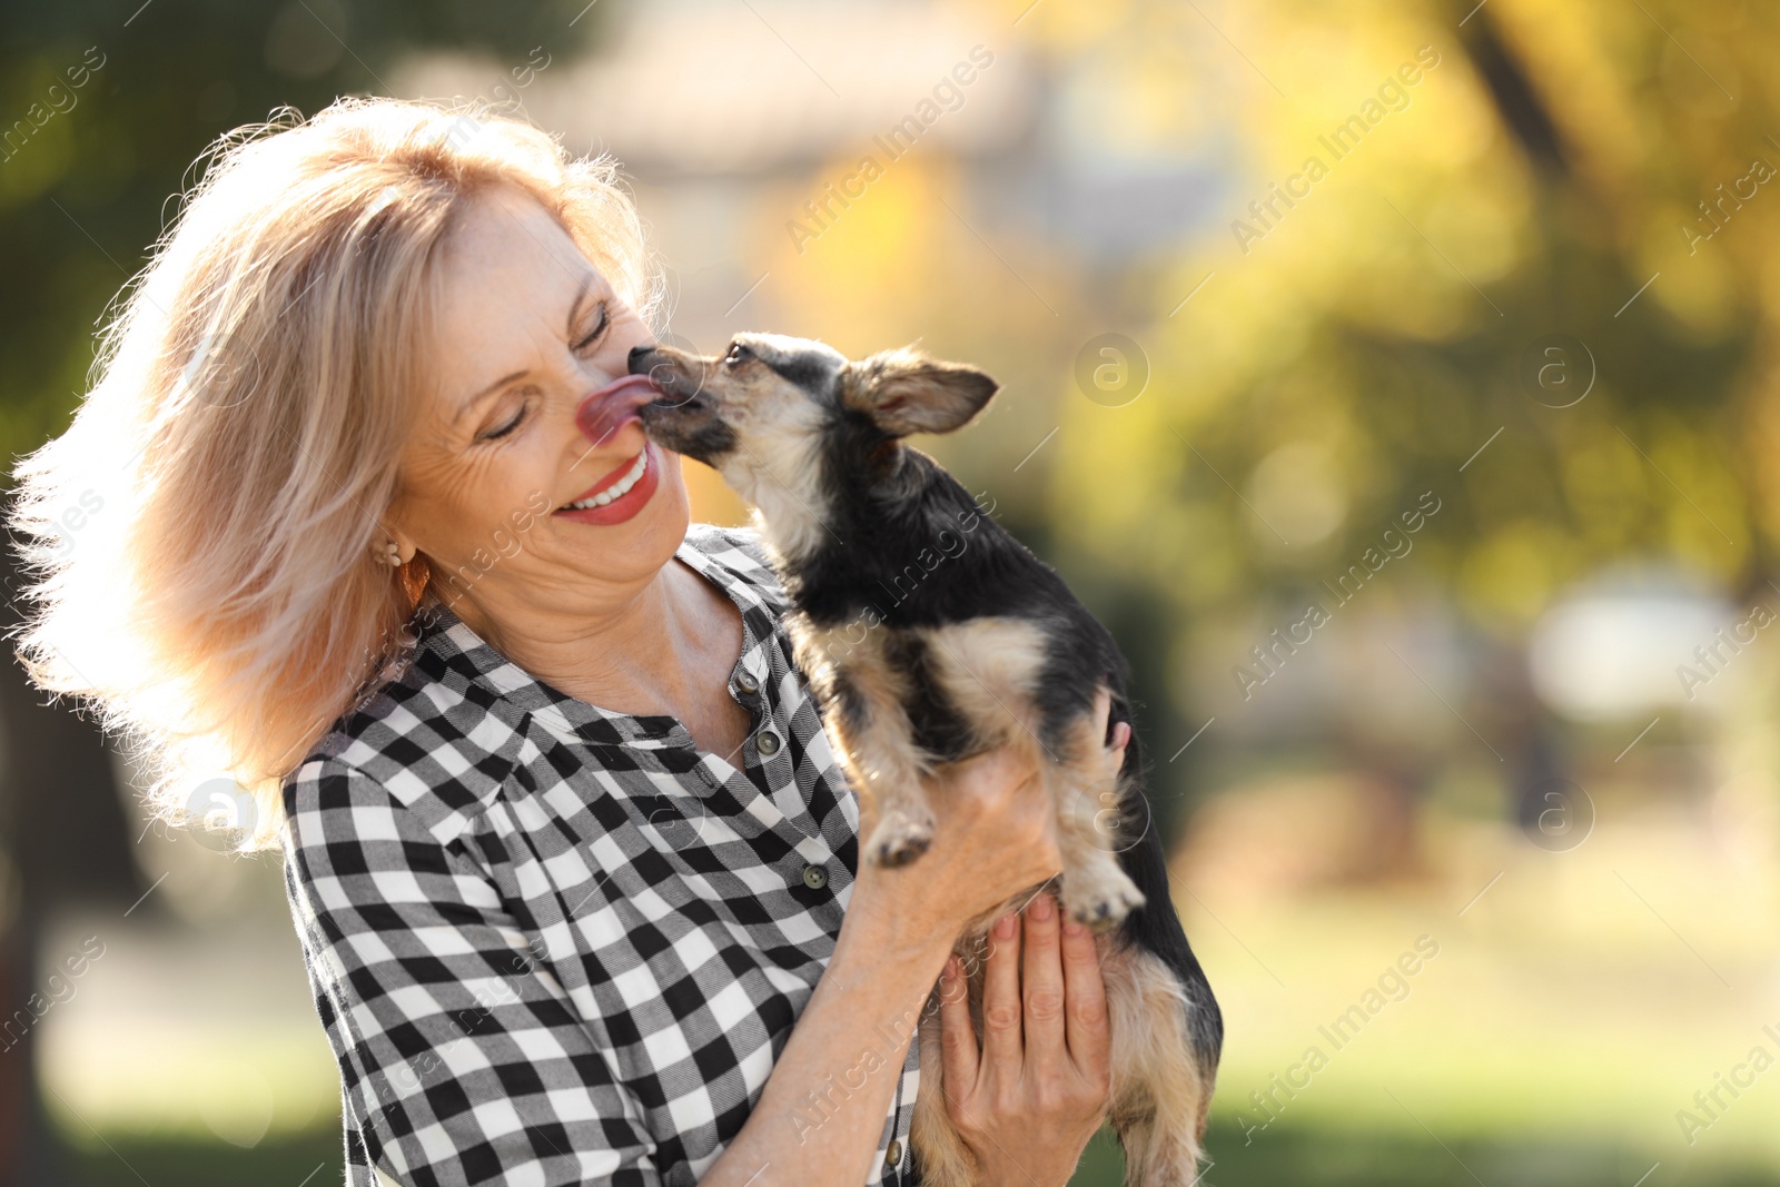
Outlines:
{"type": "Polygon", "coordinates": [[[614,162],[488,109],[344,100],[199,160],[73,424],[14,468],[20,658],[146,762],[153,815],[233,779],[263,849],[281,778],[397,674],[431,580],[370,550],[454,215],[518,185],[646,320],[662,285],[614,162]]]}

